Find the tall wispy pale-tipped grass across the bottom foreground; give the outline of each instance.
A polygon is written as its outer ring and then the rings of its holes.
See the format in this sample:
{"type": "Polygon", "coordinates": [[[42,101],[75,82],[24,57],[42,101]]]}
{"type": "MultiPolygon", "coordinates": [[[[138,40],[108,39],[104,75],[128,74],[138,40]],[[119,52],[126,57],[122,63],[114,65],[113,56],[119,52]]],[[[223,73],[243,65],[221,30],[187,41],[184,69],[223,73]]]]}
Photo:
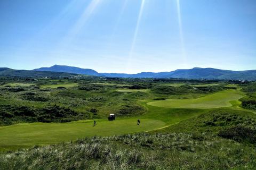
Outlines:
{"type": "Polygon", "coordinates": [[[255,169],[253,148],[210,134],[92,137],[0,155],[1,169],[255,169]]]}

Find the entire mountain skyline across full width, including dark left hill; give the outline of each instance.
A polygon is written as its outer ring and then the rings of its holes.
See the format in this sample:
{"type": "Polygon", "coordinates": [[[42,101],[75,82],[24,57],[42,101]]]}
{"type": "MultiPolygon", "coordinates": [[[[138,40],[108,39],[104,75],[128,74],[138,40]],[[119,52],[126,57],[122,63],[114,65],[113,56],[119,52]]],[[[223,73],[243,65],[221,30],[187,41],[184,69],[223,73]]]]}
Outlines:
{"type": "Polygon", "coordinates": [[[98,73],[92,69],[81,69],[79,67],[66,65],[53,65],[51,67],[41,67],[35,70],[13,70],[0,68],[0,76],[18,77],[61,77],[77,74],[85,74],[98,77],[117,78],[178,78],[178,79],[211,79],[211,80],[256,80],[256,70],[231,71],[213,68],[178,69],[170,72],[141,72],[138,74],[125,73],[98,73]]]}

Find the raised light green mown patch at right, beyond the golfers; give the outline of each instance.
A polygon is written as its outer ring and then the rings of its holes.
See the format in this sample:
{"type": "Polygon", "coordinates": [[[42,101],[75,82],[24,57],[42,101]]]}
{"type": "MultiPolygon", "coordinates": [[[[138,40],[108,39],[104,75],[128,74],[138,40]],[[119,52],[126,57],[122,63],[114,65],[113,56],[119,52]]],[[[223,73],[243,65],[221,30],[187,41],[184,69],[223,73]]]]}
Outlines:
{"type": "Polygon", "coordinates": [[[238,100],[243,96],[237,90],[224,90],[212,95],[196,99],[160,100],[147,103],[151,106],[165,108],[219,108],[230,107],[230,101],[238,100]]]}

